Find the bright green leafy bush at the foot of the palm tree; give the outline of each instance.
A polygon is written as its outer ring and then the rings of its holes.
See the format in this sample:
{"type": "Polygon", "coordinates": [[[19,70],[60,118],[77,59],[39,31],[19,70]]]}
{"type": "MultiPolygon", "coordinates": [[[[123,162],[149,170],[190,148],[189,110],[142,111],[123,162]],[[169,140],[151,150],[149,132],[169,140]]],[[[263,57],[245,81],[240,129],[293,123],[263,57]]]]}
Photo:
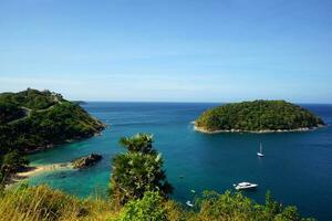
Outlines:
{"type": "Polygon", "coordinates": [[[129,201],[123,208],[117,221],[166,221],[166,210],[158,192],[145,192],[138,200],[129,201]]]}

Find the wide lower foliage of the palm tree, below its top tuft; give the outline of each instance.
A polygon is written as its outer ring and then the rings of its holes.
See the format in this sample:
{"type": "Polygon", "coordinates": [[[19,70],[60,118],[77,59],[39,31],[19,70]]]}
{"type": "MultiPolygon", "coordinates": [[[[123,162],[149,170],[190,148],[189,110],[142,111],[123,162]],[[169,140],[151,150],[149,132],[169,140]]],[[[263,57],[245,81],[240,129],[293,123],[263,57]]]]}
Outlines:
{"type": "Polygon", "coordinates": [[[122,204],[141,199],[145,191],[158,191],[164,197],[172,192],[159,155],[126,152],[116,156],[113,165],[110,191],[122,204]]]}

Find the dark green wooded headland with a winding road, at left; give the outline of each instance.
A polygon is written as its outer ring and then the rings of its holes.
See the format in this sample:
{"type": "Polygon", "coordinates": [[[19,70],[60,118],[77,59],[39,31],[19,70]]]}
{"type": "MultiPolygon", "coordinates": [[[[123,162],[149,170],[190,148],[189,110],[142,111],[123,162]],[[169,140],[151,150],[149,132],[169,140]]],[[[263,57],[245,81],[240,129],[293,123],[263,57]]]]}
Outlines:
{"type": "Polygon", "coordinates": [[[31,88],[19,93],[2,93],[0,178],[7,179],[10,173],[24,167],[28,161],[22,156],[27,152],[89,138],[103,128],[101,122],[60,94],[31,88]]]}

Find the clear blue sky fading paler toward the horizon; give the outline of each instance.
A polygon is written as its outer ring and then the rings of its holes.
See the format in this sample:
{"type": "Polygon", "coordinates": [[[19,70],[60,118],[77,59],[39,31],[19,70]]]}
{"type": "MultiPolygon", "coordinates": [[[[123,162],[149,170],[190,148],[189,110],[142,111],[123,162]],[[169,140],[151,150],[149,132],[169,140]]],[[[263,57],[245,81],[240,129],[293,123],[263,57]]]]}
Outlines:
{"type": "Polygon", "coordinates": [[[332,103],[331,0],[0,0],[0,92],[332,103]]]}

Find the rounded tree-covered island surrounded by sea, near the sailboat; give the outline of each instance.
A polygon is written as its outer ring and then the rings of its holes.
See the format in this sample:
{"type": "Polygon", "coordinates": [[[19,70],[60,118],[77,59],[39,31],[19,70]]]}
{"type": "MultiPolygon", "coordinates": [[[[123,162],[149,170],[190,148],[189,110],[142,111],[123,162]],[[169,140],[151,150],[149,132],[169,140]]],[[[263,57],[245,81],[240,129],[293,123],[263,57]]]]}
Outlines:
{"type": "Polygon", "coordinates": [[[255,101],[226,104],[204,112],[195,120],[201,133],[302,131],[324,126],[309,110],[284,101],[255,101]]]}

